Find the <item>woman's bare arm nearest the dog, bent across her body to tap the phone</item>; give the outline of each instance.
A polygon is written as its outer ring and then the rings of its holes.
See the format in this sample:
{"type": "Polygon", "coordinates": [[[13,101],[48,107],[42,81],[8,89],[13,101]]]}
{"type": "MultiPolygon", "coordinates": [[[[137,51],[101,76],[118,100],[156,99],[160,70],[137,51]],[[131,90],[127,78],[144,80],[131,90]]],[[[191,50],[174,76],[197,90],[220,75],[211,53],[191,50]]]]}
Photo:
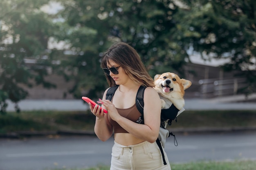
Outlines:
{"type": "Polygon", "coordinates": [[[144,124],[137,124],[122,117],[108,100],[102,100],[102,102],[111,118],[130,134],[150,143],[156,141],[160,127],[161,101],[154,88],[148,87],[144,92],[144,124]]]}

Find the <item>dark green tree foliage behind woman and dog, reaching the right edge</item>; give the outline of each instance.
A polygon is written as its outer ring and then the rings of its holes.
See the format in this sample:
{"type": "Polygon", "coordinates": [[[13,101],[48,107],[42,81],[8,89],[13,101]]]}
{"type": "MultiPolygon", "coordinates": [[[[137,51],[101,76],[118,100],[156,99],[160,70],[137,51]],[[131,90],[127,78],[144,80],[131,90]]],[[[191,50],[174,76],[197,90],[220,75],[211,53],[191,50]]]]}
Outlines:
{"type": "Polygon", "coordinates": [[[229,57],[231,62],[223,68],[243,71],[250,82],[243,93],[255,91],[255,73],[247,69],[255,64],[256,2],[253,0],[60,2],[65,7],[60,15],[66,21],[67,32],[71,32],[65,34],[65,39],[80,54],[72,58],[70,65],[78,68],[77,76],[73,77],[76,86],[72,89],[76,97],[81,96],[81,91],[99,97],[106,88],[99,60],[114,41],[131,43],[152,76],[173,71],[183,77],[191,47],[201,54],[229,57]]]}

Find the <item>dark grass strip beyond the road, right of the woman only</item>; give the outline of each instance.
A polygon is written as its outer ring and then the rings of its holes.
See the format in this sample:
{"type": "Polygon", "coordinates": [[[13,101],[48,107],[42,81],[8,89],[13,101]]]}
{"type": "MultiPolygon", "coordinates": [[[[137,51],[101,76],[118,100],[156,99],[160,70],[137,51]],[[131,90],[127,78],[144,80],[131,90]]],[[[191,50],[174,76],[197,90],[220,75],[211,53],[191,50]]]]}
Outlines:
{"type": "Polygon", "coordinates": [[[251,127],[255,121],[255,110],[185,111],[168,128],[251,127]]]}

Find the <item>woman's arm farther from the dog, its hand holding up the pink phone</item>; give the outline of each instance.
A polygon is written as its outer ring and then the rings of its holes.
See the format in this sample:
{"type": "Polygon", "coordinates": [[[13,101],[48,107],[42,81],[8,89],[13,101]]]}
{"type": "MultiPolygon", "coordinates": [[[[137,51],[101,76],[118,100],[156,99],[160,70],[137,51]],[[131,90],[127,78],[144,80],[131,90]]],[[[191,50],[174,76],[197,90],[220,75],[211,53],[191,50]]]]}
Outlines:
{"type": "MultiPolygon", "coordinates": [[[[108,89],[105,91],[103,99],[106,98],[107,91],[108,89]]],[[[90,105],[92,113],[96,116],[94,132],[101,141],[106,141],[112,136],[113,127],[108,121],[108,113],[105,114],[103,110],[97,110],[97,107],[99,107],[98,104],[92,110],[92,106],[90,105]]],[[[103,105],[102,108],[106,109],[103,105]]]]}

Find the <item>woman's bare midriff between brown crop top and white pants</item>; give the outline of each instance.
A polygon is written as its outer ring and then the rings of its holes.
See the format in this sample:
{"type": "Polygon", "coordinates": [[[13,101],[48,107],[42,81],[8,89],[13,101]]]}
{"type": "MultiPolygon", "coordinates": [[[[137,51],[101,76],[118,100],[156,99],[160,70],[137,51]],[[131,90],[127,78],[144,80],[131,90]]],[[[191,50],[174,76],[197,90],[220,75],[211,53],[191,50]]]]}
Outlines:
{"type": "Polygon", "coordinates": [[[115,133],[114,138],[118,144],[124,146],[136,145],[145,141],[133,136],[130,133],[115,133]]]}

